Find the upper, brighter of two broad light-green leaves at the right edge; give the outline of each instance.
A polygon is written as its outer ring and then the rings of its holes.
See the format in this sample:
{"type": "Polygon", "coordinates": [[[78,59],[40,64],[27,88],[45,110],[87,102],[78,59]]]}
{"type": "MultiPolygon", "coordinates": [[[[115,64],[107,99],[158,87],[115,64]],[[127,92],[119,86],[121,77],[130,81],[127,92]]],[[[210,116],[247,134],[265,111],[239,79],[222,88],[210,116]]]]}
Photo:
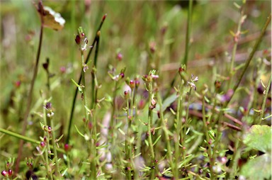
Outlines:
{"type": "Polygon", "coordinates": [[[244,137],[244,144],[261,152],[271,153],[272,129],[268,125],[252,125],[244,137]]]}

